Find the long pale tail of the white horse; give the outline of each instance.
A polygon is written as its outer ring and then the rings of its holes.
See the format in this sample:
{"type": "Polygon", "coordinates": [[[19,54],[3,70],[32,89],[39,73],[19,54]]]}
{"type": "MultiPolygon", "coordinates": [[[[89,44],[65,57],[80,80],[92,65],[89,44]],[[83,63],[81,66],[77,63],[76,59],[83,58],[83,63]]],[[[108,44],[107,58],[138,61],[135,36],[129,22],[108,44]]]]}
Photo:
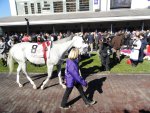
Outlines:
{"type": "Polygon", "coordinates": [[[9,75],[11,75],[11,73],[13,72],[13,68],[14,68],[14,59],[12,57],[11,51],[9,51],[9,54],[8,54],[7,65],[9,67],[9,75]]]}

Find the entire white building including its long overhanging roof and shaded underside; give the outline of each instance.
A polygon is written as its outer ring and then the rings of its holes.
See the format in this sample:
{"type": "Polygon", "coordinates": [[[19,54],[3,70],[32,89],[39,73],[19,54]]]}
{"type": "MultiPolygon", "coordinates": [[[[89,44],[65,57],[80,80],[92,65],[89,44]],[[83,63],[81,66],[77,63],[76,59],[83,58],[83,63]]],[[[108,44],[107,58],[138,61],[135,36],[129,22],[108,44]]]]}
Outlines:
{"type": "MultiPolygon", "coordinates": [[[[9,0],[4,32],[117,31],[150,29],[150,0],[9,0]]],[[[1,31],[2,31],[1,30],[1,31]]]]}

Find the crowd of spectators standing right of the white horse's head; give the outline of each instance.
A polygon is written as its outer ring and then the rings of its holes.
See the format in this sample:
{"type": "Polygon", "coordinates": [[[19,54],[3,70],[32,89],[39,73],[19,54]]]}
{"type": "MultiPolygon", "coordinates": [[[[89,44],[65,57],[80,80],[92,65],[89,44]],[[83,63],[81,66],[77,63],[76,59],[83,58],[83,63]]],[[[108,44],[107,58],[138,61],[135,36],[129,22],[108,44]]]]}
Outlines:
{"type": "Polygon", "coordinates": [[[91,32],[84,33],[83,39],[89,44],[89,51],[93,48],[99,51],[101,60],[101,70],[109,71],[111,65],[120,63],[121,50],[130,51],[130,61],[133,67],[142,63],[143,59],[149,55],[150,31],[117,31],[111,32],[91,32]],[[112,56],[112,59],[111,59],[112,56]],[[146,57],[145,57],[146,56],[146,57]]]}

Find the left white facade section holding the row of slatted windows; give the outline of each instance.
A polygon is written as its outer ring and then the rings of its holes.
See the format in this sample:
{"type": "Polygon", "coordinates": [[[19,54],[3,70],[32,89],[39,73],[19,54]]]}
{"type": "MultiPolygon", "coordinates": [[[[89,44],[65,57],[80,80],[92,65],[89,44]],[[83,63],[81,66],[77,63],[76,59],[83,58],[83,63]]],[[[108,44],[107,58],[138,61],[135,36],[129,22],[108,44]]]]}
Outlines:
{"type": "Polygon", "coordinates": [[[92,11],[92,0],[10,0],[12,15],[92,11]],[[15,6],[14,6],[15,4],[15,6]]]}

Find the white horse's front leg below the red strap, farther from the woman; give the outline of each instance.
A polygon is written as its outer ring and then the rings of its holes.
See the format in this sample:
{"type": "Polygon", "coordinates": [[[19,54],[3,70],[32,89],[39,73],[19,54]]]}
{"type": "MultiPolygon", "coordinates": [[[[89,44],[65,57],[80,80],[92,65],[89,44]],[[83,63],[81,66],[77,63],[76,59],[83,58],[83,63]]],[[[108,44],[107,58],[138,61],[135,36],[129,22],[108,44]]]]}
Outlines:
{"type": "Polygon", "coordinates": [[[41,86],[42,90],[44,89],[45,84],[49,81],[50,77],[52,76],[53,67],[54,65],[47,65],[48,76],[41,86]]]}

